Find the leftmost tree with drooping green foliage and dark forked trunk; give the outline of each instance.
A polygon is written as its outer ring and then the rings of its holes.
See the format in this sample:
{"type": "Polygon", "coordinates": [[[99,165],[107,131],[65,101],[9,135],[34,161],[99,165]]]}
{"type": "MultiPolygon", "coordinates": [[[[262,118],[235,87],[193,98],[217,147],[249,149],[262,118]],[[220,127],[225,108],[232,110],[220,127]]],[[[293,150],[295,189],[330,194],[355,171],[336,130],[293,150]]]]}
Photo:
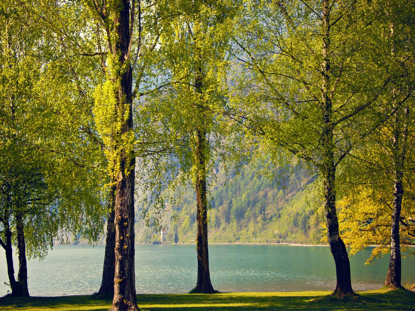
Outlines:
{"type": "MultiPolygon", "coordinates": [[[[98,240],[102,213],[97,188],[102,184],[91,169],[99,152],[91,151],[90,162],[83,161],[79,155],[89,141],[54,114],[63,102],[66,110],[73,107],[68,100],[73,85],[61,87],[61,94],[47,92],[44,79],[50,71],[41,62],[45,58],[39,28],[24,22],[28,12],[5,2],[0,13],[0,97],[8,103],[0,109],[0,244],[6,251],[12,295],[27,296],[26,256],[43,258],[58,230],[98,240]],[[12,244],[19,259],[17,281],[12,244]]],[[[54,75],[55,82],[63,76],[54,75]]],[[[83,118],[82,113],[73,117],[83,118]]]]}

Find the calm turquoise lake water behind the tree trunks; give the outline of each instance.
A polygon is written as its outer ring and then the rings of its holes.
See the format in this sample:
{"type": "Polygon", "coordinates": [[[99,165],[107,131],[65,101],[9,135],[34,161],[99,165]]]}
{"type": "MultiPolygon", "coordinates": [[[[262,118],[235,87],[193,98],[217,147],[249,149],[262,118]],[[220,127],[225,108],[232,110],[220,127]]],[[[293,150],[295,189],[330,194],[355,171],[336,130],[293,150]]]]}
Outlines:
{"type": "MultiPolygon", "coordinates": [[[[105,246],[55,246],[43,261],[28,262],[32,296],[97,292],[105,246]]],[[[196,284],[195,245],[135,245],[137,294],[186,293],[196,284]]],[[[352,256],[354,290],[383,286],[389,258],[365,265],[371,250],[352,256]]],[[[222,292],[290,292],[334,290],[335,268],[330,248],[289,245],[209,245],[210,277],[222,292]]],[[[415,257],[403,259],[402,283],[415,282],[415,257]]],[[[15,258],[17,277],[17,258],[15,258]]],[[[4,253],[0,256],[0,296],[7,293],[4,253]]]]}

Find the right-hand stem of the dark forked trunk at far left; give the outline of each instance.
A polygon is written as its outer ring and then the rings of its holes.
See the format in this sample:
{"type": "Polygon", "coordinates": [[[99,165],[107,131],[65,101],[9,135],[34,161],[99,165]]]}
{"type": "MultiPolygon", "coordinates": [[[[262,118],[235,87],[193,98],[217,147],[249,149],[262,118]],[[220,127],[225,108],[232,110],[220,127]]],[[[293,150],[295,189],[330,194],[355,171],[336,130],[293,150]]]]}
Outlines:
{"type": "Polygon", "coordinates": [[[14,295],[29,296],[29,289],[27,288],[26,244],[24,242],[23,218],[20,213],[16,215],[16,233],[19,271],[17,272],[17,290],[14,295]]]}

